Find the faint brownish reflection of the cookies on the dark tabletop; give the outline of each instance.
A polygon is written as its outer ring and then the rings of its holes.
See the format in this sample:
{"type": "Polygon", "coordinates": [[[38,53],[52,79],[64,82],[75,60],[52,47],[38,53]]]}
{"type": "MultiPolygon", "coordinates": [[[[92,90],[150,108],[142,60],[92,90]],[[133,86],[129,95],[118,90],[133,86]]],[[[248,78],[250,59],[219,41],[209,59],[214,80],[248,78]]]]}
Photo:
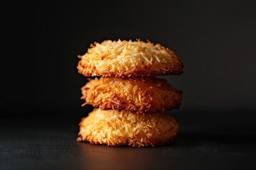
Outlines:
{"type": "Polygon", "coordinates": [[[86,158],[86,169],[149,169],[155,163],[154,152],[149,149],[107,147],[89,143],[78,145],[81,157],[86,158]]]}

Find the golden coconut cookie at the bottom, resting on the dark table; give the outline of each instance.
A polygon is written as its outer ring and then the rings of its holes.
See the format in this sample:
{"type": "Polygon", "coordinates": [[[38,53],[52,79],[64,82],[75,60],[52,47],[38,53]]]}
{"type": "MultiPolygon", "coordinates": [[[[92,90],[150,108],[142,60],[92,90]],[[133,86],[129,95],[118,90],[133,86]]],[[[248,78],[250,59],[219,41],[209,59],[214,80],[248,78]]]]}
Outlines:
{"type": "Polygon", "coordinates": [[[78,142],[108,146],[146,147],[175,139],[178,123],[167,113],[102,111],[95,108],[80,122],[78,142]]]}

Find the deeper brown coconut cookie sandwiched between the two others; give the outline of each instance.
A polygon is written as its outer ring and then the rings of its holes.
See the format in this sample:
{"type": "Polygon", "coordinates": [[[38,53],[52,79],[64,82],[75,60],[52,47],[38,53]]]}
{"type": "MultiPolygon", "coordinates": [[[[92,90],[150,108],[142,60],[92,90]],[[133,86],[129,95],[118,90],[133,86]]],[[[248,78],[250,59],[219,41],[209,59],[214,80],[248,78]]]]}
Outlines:
{"type": "Polygon", "coordinates": [[[81,88],[86,104],[102,110],[168,111],[181,105],[181,91],[156,77],[88,79],[81,88]]]}

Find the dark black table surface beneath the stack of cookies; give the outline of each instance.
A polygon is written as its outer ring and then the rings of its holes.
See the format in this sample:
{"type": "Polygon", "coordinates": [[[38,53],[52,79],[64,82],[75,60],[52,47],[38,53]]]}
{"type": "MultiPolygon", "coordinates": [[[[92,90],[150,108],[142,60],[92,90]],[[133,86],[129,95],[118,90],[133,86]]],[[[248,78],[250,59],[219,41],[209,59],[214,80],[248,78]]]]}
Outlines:
{"type": "Polygon", "coordinates": [[[255,169],[249,119],[244,128],[225,126],[233,130],[181,119],[176,142],[134,148],[76,142],[80,118],[1,118],[0,169],[255,169]]]}

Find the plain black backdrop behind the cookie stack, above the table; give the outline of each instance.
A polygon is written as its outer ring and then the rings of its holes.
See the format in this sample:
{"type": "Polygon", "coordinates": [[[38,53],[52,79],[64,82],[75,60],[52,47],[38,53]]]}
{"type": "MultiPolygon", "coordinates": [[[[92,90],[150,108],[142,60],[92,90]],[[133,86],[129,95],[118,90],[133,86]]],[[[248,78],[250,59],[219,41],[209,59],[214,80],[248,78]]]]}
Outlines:
{"type": "Polygon", "coordinates": [[[183,91],[170,111],[181,130],[244,138],[256,132],[255,19],[254,1],[1,1],[1,122],[70,120],[78,132],[91,107],[81,107],[77,55],[94,41],[140,38],[185,65],[180,77],[162,77],[183,91]]]}

